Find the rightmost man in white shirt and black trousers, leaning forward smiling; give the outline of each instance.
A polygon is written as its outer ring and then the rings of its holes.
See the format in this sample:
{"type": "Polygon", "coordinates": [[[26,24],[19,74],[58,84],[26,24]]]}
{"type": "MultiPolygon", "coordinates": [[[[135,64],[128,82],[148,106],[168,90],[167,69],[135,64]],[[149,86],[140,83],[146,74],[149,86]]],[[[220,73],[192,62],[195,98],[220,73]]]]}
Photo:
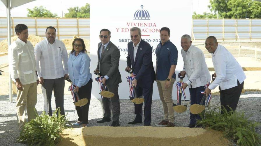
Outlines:
{"type": "Polygon", "coordinates": [[[207,37],[205,48],[212,54],[216,79],[204,93],[208,96],[211,90],[219,85],[221,109],[230,111],[231,107],[234,111],[237,108],[246,75],[234,56],[218,44],[215,36],[207,37]]]}

